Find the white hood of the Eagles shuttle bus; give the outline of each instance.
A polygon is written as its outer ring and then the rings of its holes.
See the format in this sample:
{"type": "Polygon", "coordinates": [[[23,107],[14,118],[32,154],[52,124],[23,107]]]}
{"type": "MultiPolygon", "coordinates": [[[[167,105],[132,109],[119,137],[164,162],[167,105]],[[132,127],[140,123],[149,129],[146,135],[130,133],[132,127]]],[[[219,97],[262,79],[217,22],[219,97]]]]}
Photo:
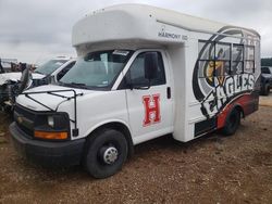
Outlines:
{"type": "MultiPolygon", "coordinates": [[[[65,91],[65,90],[74,90],[76,92],[76,94],[98,94],[98,92],[101,91],[91,91],[91,90],[85,90],[85,89],[75,89],[75,88],[70,88],[70,87],[61,87],[61,86],[55,86],[55,85],[46,85],[46,86],[40,86],[40,87],[36,87],[33,89],[28,89],[27,91],[24,91],[23,93],[29,93],[28,95],[30,98],[33,98],[34,100],[45,104],[46,106],[50,107],[51,110],[58,110],[59,105],[65,101],[67,101],[67,99],[63,98],[63,97],[73,97],[74,92],[73,91],[65,91]],[[57,94],[60,94],[62,97],[57,97],[47,92],[42,92],[42,93],[33,93],[33,92],[41,92],[41,91],[55,91],[55,90],[62,90],[63,92],[58,92],[57,94]]],[[[81,98],[81,97],[78,97],[81,98]]],[[[20,94],[16,98],[16,103],[25,106],[29,110],[33,111],[50,111],[49,109],[47,109],[46,106],[35,102],[34,100],[29,99],[28,97],[26,97],[25,94],[20,94]]],[[[70,100],[69,102],[74,102],[73,100],[70,100]]]]}

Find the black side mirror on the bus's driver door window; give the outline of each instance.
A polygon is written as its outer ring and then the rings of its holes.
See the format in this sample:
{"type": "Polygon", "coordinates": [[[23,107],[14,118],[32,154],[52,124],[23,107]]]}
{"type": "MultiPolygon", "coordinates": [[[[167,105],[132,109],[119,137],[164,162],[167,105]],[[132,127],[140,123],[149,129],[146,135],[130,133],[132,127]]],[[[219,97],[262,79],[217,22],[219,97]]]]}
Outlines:
{"type": "Polygon", "coordinates": [[[145,78],[154,79],[158,76],[158,53],[148,52],[145,54],[145,78]]]}

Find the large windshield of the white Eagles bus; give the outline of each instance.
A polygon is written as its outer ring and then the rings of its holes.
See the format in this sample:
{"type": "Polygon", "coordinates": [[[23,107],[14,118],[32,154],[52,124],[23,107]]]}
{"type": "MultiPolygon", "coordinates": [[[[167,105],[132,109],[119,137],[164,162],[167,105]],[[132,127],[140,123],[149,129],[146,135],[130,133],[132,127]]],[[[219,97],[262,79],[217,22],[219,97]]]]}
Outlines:
{"type": "Polygon", "coordinates": [[[110,89],[128,61],[132,51],[110,50],[90,52],[78,58],[75,65],[60,80],[65,86],[110,89]]]}

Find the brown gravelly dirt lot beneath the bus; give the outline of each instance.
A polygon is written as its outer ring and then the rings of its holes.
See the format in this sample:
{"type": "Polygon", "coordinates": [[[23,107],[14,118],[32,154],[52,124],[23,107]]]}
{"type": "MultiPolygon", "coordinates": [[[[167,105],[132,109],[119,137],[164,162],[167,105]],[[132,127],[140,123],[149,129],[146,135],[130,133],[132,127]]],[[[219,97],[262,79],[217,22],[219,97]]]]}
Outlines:
{"type": "Polygon", "coordinates": [[[0,203],[272,203],[272,97],[237,133],[189,143],[170,136],[136,146],[118,175],[50,170],[21,158],[0,113],[0,203]]]}

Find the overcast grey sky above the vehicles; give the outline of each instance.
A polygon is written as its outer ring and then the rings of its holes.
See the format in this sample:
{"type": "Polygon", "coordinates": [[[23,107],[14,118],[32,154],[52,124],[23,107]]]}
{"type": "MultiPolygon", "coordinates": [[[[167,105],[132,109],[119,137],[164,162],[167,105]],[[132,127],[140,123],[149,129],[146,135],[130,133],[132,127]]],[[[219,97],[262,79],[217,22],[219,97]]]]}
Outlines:
{"type": "Polygon", "coordinates": [[[271,0],[0,0],[0,58],[39,64],[58,55],[76,56],[73,25],[95,10],[120,3],[254,28],[261,35],[261,56],[272,56],[271,0]]]}

